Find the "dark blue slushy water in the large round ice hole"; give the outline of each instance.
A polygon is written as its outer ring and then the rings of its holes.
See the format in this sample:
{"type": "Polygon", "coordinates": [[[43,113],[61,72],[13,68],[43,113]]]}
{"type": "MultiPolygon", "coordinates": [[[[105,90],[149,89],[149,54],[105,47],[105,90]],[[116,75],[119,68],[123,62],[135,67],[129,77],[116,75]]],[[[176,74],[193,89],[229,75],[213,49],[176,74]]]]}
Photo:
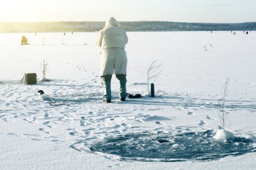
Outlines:
{"type": "Polygon", "coordinates": [[[236,137],[224,142],[212,136],[210,130],[176,135],[125,134],[95,142],[90,149],[137,161],[213,161],[256,152],[255,144],[247,138],[236,137]]]}

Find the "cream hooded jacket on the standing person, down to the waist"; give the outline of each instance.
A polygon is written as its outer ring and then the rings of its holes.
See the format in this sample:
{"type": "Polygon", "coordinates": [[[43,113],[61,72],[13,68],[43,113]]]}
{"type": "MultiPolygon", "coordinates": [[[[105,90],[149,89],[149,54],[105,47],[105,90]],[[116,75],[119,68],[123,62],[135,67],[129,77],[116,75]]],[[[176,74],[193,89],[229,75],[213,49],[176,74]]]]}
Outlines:
{"type": "Polygon", "coordinates": [[[125,48],[128,38],[125,30],[118,26],[118,22],[114,17],[110,17],[106,21],[105,27],[100,30],[100,35],[96,40],[96,44],[103,49],[106,48],[125,48]]]}

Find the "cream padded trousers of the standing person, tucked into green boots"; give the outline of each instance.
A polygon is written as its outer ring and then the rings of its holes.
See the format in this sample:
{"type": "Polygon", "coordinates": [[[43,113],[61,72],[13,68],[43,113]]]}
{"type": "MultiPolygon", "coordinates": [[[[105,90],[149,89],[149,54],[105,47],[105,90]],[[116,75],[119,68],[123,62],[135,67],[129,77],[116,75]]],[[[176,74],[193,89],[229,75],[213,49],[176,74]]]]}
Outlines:
{"type": "Polygon", "coordinates": [[[106,48],[100,56],[100,76],[115,74],[126,75],[127,56],[123,48],[106,48]]]}

